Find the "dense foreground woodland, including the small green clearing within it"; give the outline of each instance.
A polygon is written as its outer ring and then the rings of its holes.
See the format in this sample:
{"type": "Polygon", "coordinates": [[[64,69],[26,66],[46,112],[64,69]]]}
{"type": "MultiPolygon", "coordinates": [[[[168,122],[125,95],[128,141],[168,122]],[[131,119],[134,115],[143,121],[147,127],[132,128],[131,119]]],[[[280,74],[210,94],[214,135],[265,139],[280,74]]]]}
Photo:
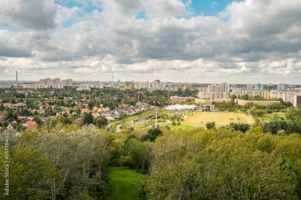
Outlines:
{"type": "MultiPolygon", "coordinates": [[[[273,117],[219,128],[212,121],[208,130],[161,124],[116,133],[93,123],[10,130],[5,198],[300,199],[301,111],[273,117]]],[[[4,132],[0,142],[4,152],[4,132]]]]}

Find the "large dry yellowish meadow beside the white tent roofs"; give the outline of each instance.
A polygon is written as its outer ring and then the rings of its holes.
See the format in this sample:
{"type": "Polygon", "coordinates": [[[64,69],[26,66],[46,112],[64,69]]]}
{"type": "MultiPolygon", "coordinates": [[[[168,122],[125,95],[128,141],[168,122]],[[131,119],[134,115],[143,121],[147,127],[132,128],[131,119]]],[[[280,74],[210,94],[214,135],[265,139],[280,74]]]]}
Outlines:
{"type": "MultiPolygon", "coordinates": [[[[182,113],[184,114],[184,112],[182,113]]],[[[205,125],[209,121],[215,121],[216,126],[225,126],[230,122],[243,122],[248,124],[252,124],[254,122],[253,118],[248,117],[248,115],[244,113],[201,112],[201,115],[199,115],[198,112],[194,112],[193,115],[188,115],[188,113],[186,112],[186,115],[187,118],[184,118],[184,121],[181,121],[181,123],[183,124],[205,125]],[[240,118],[240,120],[237,120],[238,117],[240,118]],[[234,118],[234,120],[230,120],[230,118],[234,118]]]]}

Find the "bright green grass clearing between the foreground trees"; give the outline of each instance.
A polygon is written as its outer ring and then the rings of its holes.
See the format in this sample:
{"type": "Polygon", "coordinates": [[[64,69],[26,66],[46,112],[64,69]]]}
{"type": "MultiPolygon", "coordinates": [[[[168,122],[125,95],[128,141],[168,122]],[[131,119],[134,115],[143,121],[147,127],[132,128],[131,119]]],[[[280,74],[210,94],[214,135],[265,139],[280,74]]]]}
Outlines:
{"type": "Polygon", "coordinates": [[[137,200],[142,198],[142,191],[135,187],[141,185],[140,175],[128,167],[112,167],[109,177],[109,200],[137,200]]]}

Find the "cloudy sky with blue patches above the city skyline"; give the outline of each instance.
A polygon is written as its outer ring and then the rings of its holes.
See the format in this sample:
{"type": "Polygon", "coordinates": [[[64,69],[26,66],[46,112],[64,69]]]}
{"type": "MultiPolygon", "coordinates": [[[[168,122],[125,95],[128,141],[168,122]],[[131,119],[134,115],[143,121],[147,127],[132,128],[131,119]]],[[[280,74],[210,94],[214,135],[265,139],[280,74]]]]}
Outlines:
{"type": "Polygon", "coordinates": [[[1,5],[0,80],[301,83],[300,0],[1,5]]]}

